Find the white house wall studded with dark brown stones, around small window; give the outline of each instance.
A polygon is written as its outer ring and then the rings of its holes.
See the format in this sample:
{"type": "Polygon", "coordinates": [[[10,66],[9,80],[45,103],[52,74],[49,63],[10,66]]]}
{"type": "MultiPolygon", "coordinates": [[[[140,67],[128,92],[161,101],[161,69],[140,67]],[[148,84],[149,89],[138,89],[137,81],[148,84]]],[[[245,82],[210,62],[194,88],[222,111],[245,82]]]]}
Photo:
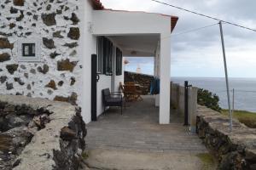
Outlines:
{"type": "Polygon", "coordinates": [[[79,0],[0,1],[0,92],[78,104],[79,0]],[[41,62],[18,62],[19,38],[41,42],[41,62]]]}

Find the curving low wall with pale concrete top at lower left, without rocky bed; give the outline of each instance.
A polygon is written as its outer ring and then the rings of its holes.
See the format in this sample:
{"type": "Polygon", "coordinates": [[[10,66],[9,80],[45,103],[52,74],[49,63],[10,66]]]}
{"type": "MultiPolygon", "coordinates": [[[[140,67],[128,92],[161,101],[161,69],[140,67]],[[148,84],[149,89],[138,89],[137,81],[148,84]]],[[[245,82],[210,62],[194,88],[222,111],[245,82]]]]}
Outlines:
{"type": "Polygon", "coordinates": [[[49,111],[50,122],[38,132],[18,156],[13,169],[78,169],[79,156],[84,150],[85,123],[80,109],[63,102],[25,96],[0,95],[3,105],[15,105],[32,110],[49,111]]]}

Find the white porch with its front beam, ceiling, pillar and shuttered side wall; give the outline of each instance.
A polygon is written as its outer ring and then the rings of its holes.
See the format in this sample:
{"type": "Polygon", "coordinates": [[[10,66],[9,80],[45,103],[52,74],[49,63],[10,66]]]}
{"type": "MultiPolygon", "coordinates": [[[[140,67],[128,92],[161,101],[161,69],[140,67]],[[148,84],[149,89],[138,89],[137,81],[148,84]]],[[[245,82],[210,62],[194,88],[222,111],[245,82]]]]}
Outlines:
{"type": "Polygon", "coordinates": [[[119,91],[124,69],[119,56],[154,57],[154,77],[160,79],[160,92],[155,98],[159,106],[160,124],[170,123],[171,33],[177,17],[143,12],[95,10],[90,32],[97,42],[98,82],[96,83],[96,116],[104,111],[102,89],[119,91]],[[106,40],[106,38],[108,40],[106,40]],[[101,43],[102,42],[102,43],[101,43]],[[102,44],[102,45],[101,45],[102,44]],[[117,53],[121,51],[122,54],[117,53]]]}

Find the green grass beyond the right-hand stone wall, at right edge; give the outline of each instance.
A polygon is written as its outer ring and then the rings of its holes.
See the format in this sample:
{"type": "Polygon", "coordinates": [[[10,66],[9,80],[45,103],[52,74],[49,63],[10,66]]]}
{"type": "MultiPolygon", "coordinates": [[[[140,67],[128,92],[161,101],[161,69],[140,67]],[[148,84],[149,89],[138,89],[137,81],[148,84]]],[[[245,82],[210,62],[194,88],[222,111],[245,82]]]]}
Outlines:
{"type": "MultiPolygon", "coordinates": [[[[228,110],[222,110],[224,116],[229,116],[228,110]]],[[[256,128],[256,113],[250,111],[234,111],[233,117],[247,127],[256,128]]]]}

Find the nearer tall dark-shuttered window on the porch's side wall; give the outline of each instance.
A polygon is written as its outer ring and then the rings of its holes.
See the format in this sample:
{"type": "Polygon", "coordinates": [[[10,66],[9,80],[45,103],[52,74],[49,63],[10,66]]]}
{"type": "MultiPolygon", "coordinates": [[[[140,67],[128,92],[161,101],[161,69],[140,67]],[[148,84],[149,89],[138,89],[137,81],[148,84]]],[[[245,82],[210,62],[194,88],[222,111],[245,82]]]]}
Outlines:
{"type": "Polygon", "coordinates": [[[112,75],[113,43],[107,37],[97,38],[98,73],[112,75]]]}

